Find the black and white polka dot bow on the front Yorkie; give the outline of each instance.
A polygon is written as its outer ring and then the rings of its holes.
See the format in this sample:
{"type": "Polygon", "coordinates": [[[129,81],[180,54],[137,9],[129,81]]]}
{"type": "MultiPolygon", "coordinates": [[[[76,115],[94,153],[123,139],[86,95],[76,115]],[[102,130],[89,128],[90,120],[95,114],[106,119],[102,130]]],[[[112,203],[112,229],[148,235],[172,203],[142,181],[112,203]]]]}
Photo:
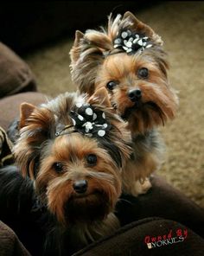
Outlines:
{"type": "Polygon", "coordinates": [[[70,112],[75,131],[88,137],[104,137],[111,124],[106,120],[105,112],[94,109],[89,104],[77,104],[77,112],[70,112]]]}

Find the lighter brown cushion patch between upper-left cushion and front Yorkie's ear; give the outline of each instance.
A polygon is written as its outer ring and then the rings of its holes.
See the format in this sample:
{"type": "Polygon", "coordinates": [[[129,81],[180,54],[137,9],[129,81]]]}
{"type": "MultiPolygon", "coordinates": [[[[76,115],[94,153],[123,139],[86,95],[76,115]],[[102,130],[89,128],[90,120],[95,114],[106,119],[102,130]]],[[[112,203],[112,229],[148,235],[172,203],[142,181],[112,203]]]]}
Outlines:
{"type": "Polygon", "coordinates": [[[10,123],[19,117],[20,104],[28,102],[35,106],[46,101],[46,96],[42,93],[18,93],[10,97],[0,99],[0,126],[7,130],[10,123]]]}

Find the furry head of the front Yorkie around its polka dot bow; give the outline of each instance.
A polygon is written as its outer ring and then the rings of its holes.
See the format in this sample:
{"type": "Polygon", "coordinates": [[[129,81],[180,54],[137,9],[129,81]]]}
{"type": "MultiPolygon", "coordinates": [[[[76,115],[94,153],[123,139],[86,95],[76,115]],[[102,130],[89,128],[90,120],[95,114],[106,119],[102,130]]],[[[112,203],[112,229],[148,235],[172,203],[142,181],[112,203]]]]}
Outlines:
{"type": "MultiPolygon", "coordinates": [[[[110,105],[108,99],[98,101],[96,94],[89,106],[95,102],[94,109],[111,109],[103,106],[110,105]]],[[[40,107],[23,104],[15,146],[22,175],[34,180],[41,203],[65,226],[102,220],[113,211],[121,193],[121,168],[131,154],[131,135],[111,111],[103,112],[110,125],[105,137],[92,138],[76,130],[70,118],[79,103],[75,97],[62,95],[40,107]]]]}

